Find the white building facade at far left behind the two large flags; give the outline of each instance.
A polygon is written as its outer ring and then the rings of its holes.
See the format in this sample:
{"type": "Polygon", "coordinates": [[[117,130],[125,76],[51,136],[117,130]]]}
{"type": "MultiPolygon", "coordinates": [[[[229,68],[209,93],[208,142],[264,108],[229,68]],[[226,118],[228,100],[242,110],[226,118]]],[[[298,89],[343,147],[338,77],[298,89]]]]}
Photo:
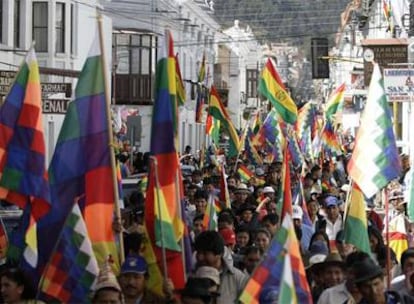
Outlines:
{"type": "MultiPolygon", "coordinates": [[[[0,82],[4,84],[0,91],[1,99],[7,94],[13,81],[13,72],[18,70],[32,42],[41,68],[42,84],[70,84],[74,91],[76,72],[81,70],[93,41],[97,28],[97,10],[100,8],[99,1],[96,0],[0,0],[0,71],[3,73],[0,82]],[[50,71],[42,71],[42,68],[50,71]]],[[[105,16],[103,28],[109,69],[112,25],[111,20],[105,16]]],[[[43,96],[43,110],[44,113],[47,112],[43,123],[48,160],[53,153],[65,114],[65,109],[50,109],[54,108],[53,104],[57,104],[56,100],[68,102],[71,93],[54,91],[43,96]]]]}

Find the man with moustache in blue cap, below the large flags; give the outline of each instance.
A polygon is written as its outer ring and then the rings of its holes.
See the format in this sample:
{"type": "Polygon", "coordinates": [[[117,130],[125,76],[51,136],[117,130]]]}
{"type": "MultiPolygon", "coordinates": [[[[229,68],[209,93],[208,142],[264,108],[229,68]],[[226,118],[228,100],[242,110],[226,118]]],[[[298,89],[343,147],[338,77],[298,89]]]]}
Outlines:
{"type": "Polygon", "coordinates": [[[145,282],[148,278],[148,265],[141,256],[131,255],[121,266],[119,283],[126,304],[164,303],[165,300],[149,291],[145,282]]]}

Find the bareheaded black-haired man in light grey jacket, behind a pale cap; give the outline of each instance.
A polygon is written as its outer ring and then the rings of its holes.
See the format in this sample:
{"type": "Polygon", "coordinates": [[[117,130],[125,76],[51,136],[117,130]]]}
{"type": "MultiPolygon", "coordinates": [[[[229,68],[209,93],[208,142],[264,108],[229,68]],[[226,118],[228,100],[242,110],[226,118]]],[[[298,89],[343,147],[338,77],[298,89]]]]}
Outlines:
{"type": "Polygon", "coordinates": [[[248,276],[235,268],[224,256],[224,241],[217,231],[204,231],[195,240],[196,271],[199,267],[214,267],[220,272],[217,304],[234,303],[243,290],[248,276]]]}

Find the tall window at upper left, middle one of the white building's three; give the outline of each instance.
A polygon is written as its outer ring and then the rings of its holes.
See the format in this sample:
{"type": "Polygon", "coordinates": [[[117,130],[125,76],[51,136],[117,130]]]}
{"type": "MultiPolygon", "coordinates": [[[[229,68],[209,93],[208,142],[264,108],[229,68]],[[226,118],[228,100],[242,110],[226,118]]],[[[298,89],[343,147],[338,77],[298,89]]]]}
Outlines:
{"type": "Polygon", "coordinates": [[[38,52],[47,52],[47,2],[33,2],[33,40],[38,52]]]}

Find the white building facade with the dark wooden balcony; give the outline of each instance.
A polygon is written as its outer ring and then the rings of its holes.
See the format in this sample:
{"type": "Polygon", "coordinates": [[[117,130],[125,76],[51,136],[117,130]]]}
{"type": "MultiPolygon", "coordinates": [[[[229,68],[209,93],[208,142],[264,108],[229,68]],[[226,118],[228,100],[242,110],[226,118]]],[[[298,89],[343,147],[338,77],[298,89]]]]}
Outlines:
{"type": "MultiPolygon", "coordinates": [[[[129,94],[129,97],[123,100],[115,100],[116,104],[121,103],[136,108],[139,113],[141,131],[140,135],[138,134],[139,142],[136,143],[137,150],[149,151],[154,97],[151,92],[154,90],[156,47],[157,41],[163,39],[165,29],[172,32],[174,51],[180,62],[187,93],[185,105],[180,107],[180,148],[183,150],[186,145],[191,145],[193,151],[200,149],[204,144],[205,131],[203,124],[195,122],[195,86],[203,54],[206,56],[206,84],[209,86],[213,81],[214,64],[217,61],[214,47],[215,34],[219,29],[213,17],[213,6],[205,1],[152,0],[148,3],[133,3],[132,1],[113,0],[105,4],[105,11],[113,20],[115,45],[119,39],[146,37],[145,39],[151,41],[145,50],[141,47],[140,51],[137,51],[140,52],[139,54],[130,51],[134,46],[125,46],[123,51],[129,52],[128,59],[122,58],[120,48],[118,51],[114,49],[113,54],[118,65],[116,67],[117,79],[121,79],[120,74],[124,74],[124,78],[129,77],[129,79],[136,75],[138,82],[139,79],[147,78],[150,83],[147,88],[137,87],[138,91],[149,89],[149,94],[144,98],[134,98],[129,94]],[[124,66],[120,67],[120,63],[124,66]],[[133,67],[137,64],[141,67],[139,71],[133,67]],[[127,74],[129,76],[126,76],[127,74]]],[[[119,81],[115,85],[118,86],[119,81]]],[[[131,88],[128,89],[131,90],[131,88]]]]}

